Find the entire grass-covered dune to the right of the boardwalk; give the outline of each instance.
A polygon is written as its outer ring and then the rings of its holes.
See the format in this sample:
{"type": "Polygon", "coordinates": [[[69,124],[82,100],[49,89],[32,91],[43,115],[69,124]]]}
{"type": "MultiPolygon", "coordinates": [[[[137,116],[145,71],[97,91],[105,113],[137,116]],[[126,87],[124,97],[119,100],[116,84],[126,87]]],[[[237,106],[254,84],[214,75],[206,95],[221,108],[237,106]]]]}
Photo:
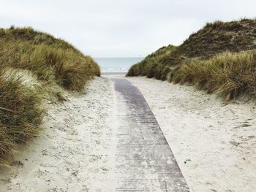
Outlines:
{"type": "Polygon", "coordinates": [[[132,66],[127,76],[189,82],[226,99],[256,96],[256,20],[207,23],[182,45],[168,47],[132,66]]]}

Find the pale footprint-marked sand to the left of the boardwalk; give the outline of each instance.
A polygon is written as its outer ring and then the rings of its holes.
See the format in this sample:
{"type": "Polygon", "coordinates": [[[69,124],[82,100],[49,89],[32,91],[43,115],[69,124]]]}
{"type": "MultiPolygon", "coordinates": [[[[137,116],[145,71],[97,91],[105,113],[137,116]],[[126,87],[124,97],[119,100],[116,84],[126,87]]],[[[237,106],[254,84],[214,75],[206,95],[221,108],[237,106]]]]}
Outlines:
{"type": "Polygon", "coordinates": [[[0,191],[113,191],[113,83],[97,77],[50,109],[42,137],[0,169],[0,191]]]}

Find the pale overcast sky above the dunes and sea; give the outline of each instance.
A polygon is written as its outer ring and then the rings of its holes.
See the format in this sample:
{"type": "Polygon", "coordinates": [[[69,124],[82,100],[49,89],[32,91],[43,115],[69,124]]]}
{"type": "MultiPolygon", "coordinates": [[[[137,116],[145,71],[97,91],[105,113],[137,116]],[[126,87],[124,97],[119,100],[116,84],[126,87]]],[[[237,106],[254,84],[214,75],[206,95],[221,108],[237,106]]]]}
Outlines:
{"type": "Polygon", "coordinates": [[[0,28],[31,26],[86,55],[146,56],[206,22],[256,17],[256,0],[0,0],[0,28]]]}

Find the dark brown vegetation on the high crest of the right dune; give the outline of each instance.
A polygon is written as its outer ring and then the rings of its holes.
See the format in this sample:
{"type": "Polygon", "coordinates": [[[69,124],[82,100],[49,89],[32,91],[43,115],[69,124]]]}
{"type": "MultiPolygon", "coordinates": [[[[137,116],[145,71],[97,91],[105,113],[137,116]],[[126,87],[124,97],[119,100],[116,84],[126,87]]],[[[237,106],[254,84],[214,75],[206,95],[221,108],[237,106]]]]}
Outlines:
{"type": "Polygon", "coordinates": [[[206,23],[202,29],[184,41],[178,55],[185,58],[211,58],[226,51],[239,52],[256,49],[256,19],[206,23]]]}

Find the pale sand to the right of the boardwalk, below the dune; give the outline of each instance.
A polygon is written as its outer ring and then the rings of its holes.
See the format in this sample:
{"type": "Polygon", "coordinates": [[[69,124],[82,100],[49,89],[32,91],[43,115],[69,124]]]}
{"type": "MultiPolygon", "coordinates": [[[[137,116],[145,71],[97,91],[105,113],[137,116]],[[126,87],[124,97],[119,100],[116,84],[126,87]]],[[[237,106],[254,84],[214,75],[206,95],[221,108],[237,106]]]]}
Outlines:
{"type": "Polygon", "coordinates": [[[127,79],[148,101],[192,191],[256,190],[255,103],[224,105],[194,87],[127,79]]]}

